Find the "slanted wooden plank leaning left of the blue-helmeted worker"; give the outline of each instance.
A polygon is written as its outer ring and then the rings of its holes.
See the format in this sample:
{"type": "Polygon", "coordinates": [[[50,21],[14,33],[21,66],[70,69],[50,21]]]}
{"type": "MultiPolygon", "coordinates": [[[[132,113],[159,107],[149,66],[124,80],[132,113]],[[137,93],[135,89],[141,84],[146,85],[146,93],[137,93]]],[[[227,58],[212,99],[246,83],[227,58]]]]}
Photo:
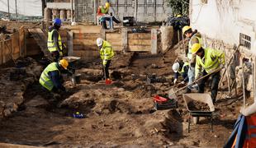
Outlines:
{"type": "Polygon", "coordinates": [[[46,57],[52,59],[50,52],[47,48],[47,37],[44,34],[43,30],[40,28],[28,29],[33,38],[36,40],[36,43],[40,46],[41,51],[45,54],[46,57]]]}

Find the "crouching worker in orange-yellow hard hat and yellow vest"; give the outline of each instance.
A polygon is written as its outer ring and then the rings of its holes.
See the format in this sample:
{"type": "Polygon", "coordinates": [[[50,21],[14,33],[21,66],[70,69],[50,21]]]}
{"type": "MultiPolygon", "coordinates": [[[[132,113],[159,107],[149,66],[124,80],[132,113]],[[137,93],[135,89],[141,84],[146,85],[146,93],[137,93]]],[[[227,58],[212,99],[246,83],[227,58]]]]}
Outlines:
{"type": "Polygon", "coordinates": [[[46,90],[52,92],[65,92],[66,89],[63,86],[62,72],[65,72],[69,66],[69,62],[65,59],[59,60],[59,62],[51,62],[40,76],[40,85],[46,90]]]}

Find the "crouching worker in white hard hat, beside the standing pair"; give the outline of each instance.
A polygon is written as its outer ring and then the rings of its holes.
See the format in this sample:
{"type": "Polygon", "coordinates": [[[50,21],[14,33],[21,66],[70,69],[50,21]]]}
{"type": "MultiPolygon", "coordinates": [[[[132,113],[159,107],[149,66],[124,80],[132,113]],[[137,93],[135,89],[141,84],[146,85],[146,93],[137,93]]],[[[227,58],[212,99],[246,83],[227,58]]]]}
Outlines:
{"type": "Polygon", "coordinates": [[[183,81],[181,82],[181,84],[185,84],[188,81],[188,76],[187,76],[188,68],[189,68],[189,62],[179,61],[173,64],[174,85],[176,84],[179,75],[183,76],[183,81]]]}

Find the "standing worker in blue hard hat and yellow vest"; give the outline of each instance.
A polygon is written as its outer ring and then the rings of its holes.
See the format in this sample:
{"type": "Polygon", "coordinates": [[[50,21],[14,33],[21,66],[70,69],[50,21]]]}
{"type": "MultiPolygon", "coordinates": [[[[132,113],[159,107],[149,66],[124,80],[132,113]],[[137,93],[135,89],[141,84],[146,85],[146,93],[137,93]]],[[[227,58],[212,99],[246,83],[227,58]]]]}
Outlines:
{"type": "Polygon", "coordinates": [[[60,26],[61,20],[59,18],[55,18],[54,25],[50,27],[48,32],[47,47],[55,62],[58,62],[63,57],[63,47],[61,37],[59,35],[60,26]]]}

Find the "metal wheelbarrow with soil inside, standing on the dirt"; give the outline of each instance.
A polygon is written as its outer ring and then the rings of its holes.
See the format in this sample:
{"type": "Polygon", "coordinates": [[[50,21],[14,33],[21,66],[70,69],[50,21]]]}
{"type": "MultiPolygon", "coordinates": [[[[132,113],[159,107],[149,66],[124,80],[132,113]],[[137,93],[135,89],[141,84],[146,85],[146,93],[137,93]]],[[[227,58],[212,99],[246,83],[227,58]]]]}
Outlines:
{"type": "Polygon", "coordinates": [[[187,110],[189,112],[187,132],[190,131],[191,117],[193,118],[206,117],[210,119],[210,123],[211,123],[210,130],[212,132],[212,128],[213,128],[212,114],[215,111],[215,108],[211,99],[211,95],[201,94],[201,93],[183,94],[183,99],[185,101],[187,110]],[[206,107],[208,108],[208,110],[197,109],[195,107],[196,103],[206,104],[206,107]]]}

